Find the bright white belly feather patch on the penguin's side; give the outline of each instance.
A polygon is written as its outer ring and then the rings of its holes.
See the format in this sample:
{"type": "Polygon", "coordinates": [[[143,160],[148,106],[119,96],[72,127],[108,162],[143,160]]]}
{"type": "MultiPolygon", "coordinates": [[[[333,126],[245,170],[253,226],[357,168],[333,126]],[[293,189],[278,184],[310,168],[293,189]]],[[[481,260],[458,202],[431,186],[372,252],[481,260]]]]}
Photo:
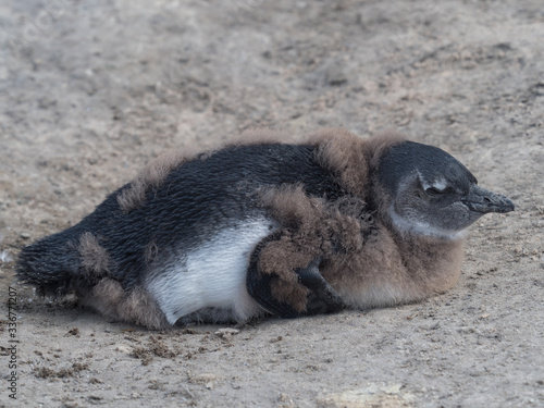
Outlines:
{"type": "Polygon", "coordinates": [[[170,323],[203,308],[244,321],[262,312],[246,289],[246,272],[255,246],[275,224],[264,218],[220,230],[183,259],[170,261],[147,282],[149,293],[170,323]]]}

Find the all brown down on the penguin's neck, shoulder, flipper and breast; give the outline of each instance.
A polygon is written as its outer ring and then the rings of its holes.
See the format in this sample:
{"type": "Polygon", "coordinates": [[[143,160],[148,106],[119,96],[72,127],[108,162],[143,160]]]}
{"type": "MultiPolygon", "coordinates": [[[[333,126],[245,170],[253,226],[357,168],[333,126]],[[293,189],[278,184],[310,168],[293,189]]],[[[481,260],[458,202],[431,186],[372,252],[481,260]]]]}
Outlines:
{"type": "Polygon", "coordinates": [[[307,289],[295,270],[323,259],[323,277],[351,307],[372,308],[422,299],[457,282],[462,242],[404,236],[387,214],[391,197],[381,187],[380,158],[405,138],[385,134],[362,140],[343,129],[316,135],[318,160],[351,194],[336,202],[308,197],[301,186],[272,188],[264,207],[282,224],[281,238],[260,255],[260,273],[273,273],[272,294],[297,311],[306,309],[307,289]],[[379,203],[371,217],[366,202],[379,203]]]}

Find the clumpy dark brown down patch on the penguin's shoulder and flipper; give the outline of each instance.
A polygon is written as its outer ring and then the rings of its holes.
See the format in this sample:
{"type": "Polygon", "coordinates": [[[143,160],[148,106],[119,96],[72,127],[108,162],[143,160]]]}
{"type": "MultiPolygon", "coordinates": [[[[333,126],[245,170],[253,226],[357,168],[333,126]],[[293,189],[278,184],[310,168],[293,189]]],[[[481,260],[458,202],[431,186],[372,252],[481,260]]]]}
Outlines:
{"type": "Polygon", "coordinates": [[[308,289],[298,283],[295,270],[318,257],[334,259],[360,250],[372,221],[355,197],[327,202],[308,197],[301,186],[271,188],[261,194],[261,202],[283,227],[280,238],[261,250],[259,273],[275,274],[272,295],[304,312],[308,289]]]}

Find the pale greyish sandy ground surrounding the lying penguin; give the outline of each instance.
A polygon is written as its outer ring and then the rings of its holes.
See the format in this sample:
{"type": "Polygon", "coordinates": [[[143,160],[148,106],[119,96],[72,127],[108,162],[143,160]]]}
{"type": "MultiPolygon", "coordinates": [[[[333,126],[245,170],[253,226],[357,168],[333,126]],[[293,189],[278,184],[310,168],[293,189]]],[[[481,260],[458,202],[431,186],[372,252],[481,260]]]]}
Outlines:
{"type": "Polygon", "coordinates": [[[544,406],[544,8],[534,1],[0,3],[2,407],[544,406]],[[18,248],[151,158],[251,126],[405,132],[517,211],[418,305],[169,333],[13,284],[18,248]],[[12,332],[13,333],[13,332],[12,332]]]}

